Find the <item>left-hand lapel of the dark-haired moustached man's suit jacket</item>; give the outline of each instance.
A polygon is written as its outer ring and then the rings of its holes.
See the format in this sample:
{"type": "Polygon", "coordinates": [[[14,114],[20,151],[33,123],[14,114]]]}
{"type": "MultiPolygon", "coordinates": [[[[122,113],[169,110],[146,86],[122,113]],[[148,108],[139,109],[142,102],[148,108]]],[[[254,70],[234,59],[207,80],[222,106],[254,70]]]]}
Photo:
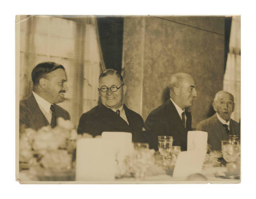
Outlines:
{"type": "Polygon", "coordinates": [[[41,112],[34,95],[31,93],[29,98],[29,109],[31,111],[32,119],[35,124],[36,129],[50,125],[45,115],[41,112]]]}

